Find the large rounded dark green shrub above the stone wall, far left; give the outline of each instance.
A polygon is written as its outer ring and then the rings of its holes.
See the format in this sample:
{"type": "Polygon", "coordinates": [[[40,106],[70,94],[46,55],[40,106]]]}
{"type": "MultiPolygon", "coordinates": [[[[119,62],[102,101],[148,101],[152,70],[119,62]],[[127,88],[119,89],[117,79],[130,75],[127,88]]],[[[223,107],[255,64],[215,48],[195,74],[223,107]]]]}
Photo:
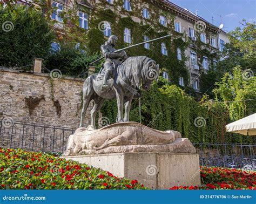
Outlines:
{"type": "Polygon", "coordinates": [[[0,30],[0,65],[22,67],[31,65],[34,57],[48,57],[53,34],[41,12],[0,5],[0,25],[5,26],[0,30]]]}

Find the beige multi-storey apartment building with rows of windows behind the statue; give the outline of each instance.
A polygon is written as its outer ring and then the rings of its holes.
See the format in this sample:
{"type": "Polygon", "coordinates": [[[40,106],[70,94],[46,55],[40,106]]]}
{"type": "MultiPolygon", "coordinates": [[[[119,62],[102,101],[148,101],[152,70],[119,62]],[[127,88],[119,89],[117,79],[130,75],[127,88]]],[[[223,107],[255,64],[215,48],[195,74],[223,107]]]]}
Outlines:
{"type": "MultiPolygon", "coordinates": [[[[78,2],[75,2],[73,0],[55,0],[52,1],[52,6],[57,8],[56,12],[52,13],[52,19],[58,21],[58,26],[60,27],[62,26],[62,18],[58,13],[75,6],[79,17],[79,26],[85,30],[86,34],[98,27],[103,36],[99,40],[95,38],[94,40],[97,42],[92,42],[93,39],[89,39],[93,44],[93,49],[98,47],[99,50],[100,44],[104,43],[110,35],[117,35],[119,38],[123,38],[121,39],[122,42],[119,42],[121,46],[129,46],[141,42],[141,40],[153,39],[154,37],[159,37],[157,33],[164,32],[171,33],[173,37],[183,39],[186,44],[185,49],[181,49],[178,45],[173,46],[172,40],[169,40],[169,42],[158,42],[159,48],[157,48],[158,45],[145,44],[142,54],[140,52],[134,52],[133,54],[152,56],[157,62],[160,61],[164,78],[180,86],[191,86],[197,92],[200,92],[200,73],[202,71],[207,72],[210,67],[214,67],[217,64],[218,60],[221,60],[219,53],[223,50],[224,45],[228,43],[225,31],[207,22],[196,13],[180,8],[171,1],[78,0],[78,2]],[[112,12],[113,17],[109,16],[109,10],[112,12]],[[99,17],[103,11],[108,12],[105,16],[99,17]],[[116,15],[117,17],[114,18],[116,15]],[[114,20],[112,21],[113,18],[114,20]],[[132,29],[129,21],[126,21],[124,26],[119,26],[118,23],[125,18],[130,18],[131,24],[135,22],[141,28],[144,28],[143,26],[147,27],[139,34],[137,32],[138,27],[136,27],[137,30],[132,29]],[[123,29],[122,33],[118,34],[117,32],[120,29],[123,29]],[[147,33],[152,30],[154,30],[154,33],[148,36],[147,33]],[[158,51],[159,55],[153,54],[153,52],[158,51]],[[168,60],[170,56],[173,57],[174,55],[177,55],[175,59],[177,63],[184,61],[189,75],[186,83],[184,74],[182,75],[179,70],[175,74],[171,71],[172,66],[175,66],[172,64],[174,59],[168,60]]],[[[94,38],[94,36],[91,38],[94,38]]]]}

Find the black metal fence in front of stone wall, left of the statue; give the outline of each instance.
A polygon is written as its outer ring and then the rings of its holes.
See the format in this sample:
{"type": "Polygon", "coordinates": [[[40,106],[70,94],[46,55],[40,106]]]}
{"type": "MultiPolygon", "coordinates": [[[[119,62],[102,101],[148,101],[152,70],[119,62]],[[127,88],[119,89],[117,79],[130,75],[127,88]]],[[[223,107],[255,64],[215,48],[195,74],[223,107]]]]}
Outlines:
{"type": "Polygon", "coordinates": [[[64,152],[72,128],[9,121],[0,124],[0,146],[29,151],[64,152]]]}

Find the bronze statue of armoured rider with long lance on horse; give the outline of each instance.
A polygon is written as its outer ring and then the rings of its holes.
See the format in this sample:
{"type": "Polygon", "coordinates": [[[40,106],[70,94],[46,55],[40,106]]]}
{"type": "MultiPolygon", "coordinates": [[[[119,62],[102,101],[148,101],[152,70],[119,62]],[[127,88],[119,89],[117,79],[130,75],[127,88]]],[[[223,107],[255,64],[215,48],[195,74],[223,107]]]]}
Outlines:
{"type": "Polygon", "coordinates": [[[114,47],[116,46],[117,40],[117,36],[112,35],[100,47],[103,57],[97,59],[95,62],[105,58],[102,69],[97,74],[91,74],[84,81],[83,108],[79,127],[84,126],[86,109],[91,100],[94,101],[91,110],[91,128],[96,129],[95,117],[105,99],[117,99],[117,123],[129,121],[132,99],[141,96],[141,83],[142,88],[148,90],[152,81],[158,80],[160,73],[159,64],[156,64],[153,59],[146,56],[127,57],[124,51],[130,47],[149,43],[153,40],[116,50],[114,47]],[[125,110],[124,115],[123,110],[125,110]]]}

